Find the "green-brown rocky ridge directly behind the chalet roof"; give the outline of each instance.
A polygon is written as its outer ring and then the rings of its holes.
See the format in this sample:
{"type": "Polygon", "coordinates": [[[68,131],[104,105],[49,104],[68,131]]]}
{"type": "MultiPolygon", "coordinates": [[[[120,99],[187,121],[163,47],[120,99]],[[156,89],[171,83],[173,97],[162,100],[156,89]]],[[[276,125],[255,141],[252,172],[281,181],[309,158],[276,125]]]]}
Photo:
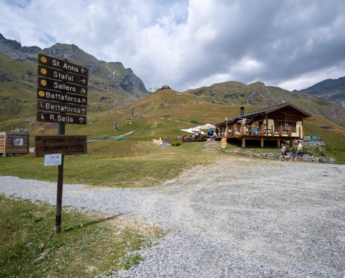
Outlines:
{"type": "Polygon", "coordinates": [[[290,102],[314,115],[345,126],[345,108],[333,104],[321,97],[303,92],[290,92],[282,88],[266,86],[262,82],[245,85],[240,82],[228,81],[216,83],[210,87],[187,90],[183,92],[213,104],[233,106],[275,106],[290,102]]]}

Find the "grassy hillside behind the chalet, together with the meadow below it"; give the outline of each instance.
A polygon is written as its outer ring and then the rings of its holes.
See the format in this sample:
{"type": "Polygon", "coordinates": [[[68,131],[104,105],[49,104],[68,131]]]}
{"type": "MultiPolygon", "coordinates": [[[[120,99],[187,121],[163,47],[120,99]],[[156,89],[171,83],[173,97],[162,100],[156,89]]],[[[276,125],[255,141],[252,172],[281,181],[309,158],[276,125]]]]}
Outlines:
{"type": "MultiPolygon", "coordinates": [[[[131,119],[130,105],[102,113],[89,113],[92,125],[68,124],[66,134],[86,134],[89,140],[100,140],[88,145],[88,154],[66,156],[66,183],[87,183],[98,186],[151,186],[174,179],[183,169],[197,164],[212,163],[225,154],[210,156],[203,151],[204,142],[187,143],[180,147],[160,148],[151,144],[152,138],[175,138],[183,135],[180,129],[196,126],[191,120],[206,124],[216,124],[224,117],[239,114],[238,106],[211,104],[197,97],[182,94],[174,90],[161,90],[144,99],[135,101],[135,116],[131,119]],[[118,130],[114,131],[113,120],[119,120],[118,130]],[[104,136],[118,136],[135,131],[121,141],[105,141],[104,136]]],[[[261,106],[245,106],[245,111],[256,111],[261,106]]],[[[31,146],[34,135],[56,134],[54,124],[43,123],[32,126],[31,146]]],[[[313,115],[305,120],[305,133],[318,134],[323,138],[328,157],[336,158],[338,163],[345,163],[345,129],[324,117],[313,115]],[[321,124],[334,129],[322,129],[321,124]]],[[[259,148],[259,142],[248,145],[254,152],[279,152],[274,145],[267,144],[259,148]]],[[[240,147],[234,144],[231,148],[240,147]]],[[[247,148],[248,152],[251,152],[247,148]]],[[[56,167],[44,167],[43,158],[34,158],[33,154],[22,157],[0,158],[0,174],[15,175],[22,178],[56,181],[56,167]],[[30,165],[22,167],[20,165],[30,165]],[[43,171],[44,169],[44,171],[43,171]]]]}

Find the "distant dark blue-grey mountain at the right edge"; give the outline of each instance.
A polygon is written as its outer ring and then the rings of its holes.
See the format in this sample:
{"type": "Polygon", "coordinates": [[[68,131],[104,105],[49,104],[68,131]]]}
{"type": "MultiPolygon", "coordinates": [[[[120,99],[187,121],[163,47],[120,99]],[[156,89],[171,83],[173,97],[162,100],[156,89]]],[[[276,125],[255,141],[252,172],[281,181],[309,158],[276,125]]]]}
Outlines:
{"type": "Polygon", "coordinates": [[[323,97],[339,106],[345,107],[345,76],[339,79],[326,79],[303,90],[293,92],[323,97]]]}

